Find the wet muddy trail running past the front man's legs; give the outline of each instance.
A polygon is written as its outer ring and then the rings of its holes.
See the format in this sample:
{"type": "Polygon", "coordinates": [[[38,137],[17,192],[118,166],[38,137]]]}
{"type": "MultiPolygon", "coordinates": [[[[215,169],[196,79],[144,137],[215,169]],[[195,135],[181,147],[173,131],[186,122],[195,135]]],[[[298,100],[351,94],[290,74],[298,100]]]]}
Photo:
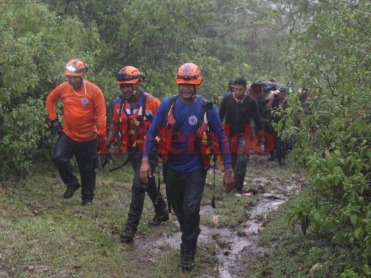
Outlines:
{"type": "MultiPolygon", "coordinates": [[[[198,243],[214,244],[216,252],[214,267],[217,275],[204,277],[237,278],[242,277],[248,268],[248,262],[258,259],[265,252],[265,247],[258,246],[259,231],[263,229],[262,222],[269,212],[285,203],[292,195],[296,195],[302,188],[303,178],[299,174],[290,174],[287,179],[270,176],[264,171],[259,171],[262,165],[267,167],[281,167],[276,162],[268,162],[267,156],[252,156],[249,167],[258,169],[258,174],[252,174],[245,178],[244,194],[235,196],[236,198],[255,198],[258,202],[249,211],[249,217],[238,229],[207,227],[200,225],[201,234],[198,243]],[[269,185],[269,190],[267,186],[269,185]],[[223,241],[219,245],[218,241],[223,241]]],[[[291,167],[290,164],[285,167],[291,167]]],[[[200,215],[210,217],[215,223],[218,221],[218,210],[212,206],[202,206],[200,215]]],[[[177,225],[176,217],[173,215],[171,220],[177,225]]],[[[216,225],[217,226],[217,225],[216,225]]],[[[139,261],[157,262],[157,256],[161,255],[162,250],[170,246],[179,250],[181,233],[178,230],[172,234],[166,234],[164,229],[158,227],[153,229],[152,234],[145,237],[136,238],[131,245],[132,256],[139,261]]]]}

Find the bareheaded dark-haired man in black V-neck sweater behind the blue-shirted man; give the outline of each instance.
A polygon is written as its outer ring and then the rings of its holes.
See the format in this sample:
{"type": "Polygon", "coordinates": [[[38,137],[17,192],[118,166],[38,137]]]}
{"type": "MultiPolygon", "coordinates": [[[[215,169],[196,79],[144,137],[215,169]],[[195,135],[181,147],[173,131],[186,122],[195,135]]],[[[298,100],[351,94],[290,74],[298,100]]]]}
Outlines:
{"type": "MultiPolygon", "coordinates": [[[[232,149],[232,168],[235,177],[235,194],[241,196],[247,163],[250,160],[251,120],[257,133],[262,131],[262,121],[258,112],[258,104],[247,92],[247,81],[244,77],[235,80],[235,91],[223,98],[219,108],[221,122],[229,126],[230,147],[232,149]],[[237,136],[237,138],[236,138],[237,136]],[[234,147],[235,150],[234,150],[234,147]]],[[[263,136],[260,136],[260,140],[263,136]]]]}

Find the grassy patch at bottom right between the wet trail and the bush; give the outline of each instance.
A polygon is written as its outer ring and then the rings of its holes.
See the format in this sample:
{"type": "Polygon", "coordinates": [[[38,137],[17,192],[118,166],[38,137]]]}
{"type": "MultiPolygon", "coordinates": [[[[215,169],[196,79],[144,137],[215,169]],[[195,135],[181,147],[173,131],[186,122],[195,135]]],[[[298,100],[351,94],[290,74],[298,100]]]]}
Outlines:
{"type": "MultiPolygon", "coordinates": [[[[361,254],[349,246],[340,246],[329,235],[308,231],[303,236],[299,223],[294,230],[287,222],[290,207],[299,202],[306,189],[270,213],[260,234],[260,245],[268,250],[246,270],[248,278],[340,277],[343,266],[361,261],[361,254]]],[[[359,276],[351,276],[359,277],[359,276]]]]}

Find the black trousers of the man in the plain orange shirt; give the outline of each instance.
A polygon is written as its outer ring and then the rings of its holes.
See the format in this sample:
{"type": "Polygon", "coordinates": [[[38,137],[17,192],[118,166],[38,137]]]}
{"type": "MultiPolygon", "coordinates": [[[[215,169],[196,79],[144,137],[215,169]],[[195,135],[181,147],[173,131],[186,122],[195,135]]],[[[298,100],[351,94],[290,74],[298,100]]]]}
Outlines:
{"type": "Polygon", "coordinates": [[[81,198],[93,200],[95,189],[95,169],[98,165],[98,141],[74,141],[61,133],[52,150],[52,161],[66,186],[77,186],[79,181],[71,170],[70,161],[76,157],[81,177],[81,198]]]}

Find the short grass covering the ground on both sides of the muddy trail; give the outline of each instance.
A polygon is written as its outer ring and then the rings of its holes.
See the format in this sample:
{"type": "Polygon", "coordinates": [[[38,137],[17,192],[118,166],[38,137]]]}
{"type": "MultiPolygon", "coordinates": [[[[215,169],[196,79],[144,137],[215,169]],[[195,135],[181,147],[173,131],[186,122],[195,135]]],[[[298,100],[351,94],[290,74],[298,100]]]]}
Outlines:
{"type": "MultiPolygon", "coordinates": [[[[303,183],[292,167],[265,163],[265,158],[251,161],[246,174],[248,186],[263,186],[267,193],[287,193],[287,186],[303,183]],[[262,167],[264,166],[264,167],[262,167]],[[262,179],[264,178],[264,179],[262,179]],[[286,191],[285,191],[286,190],[286,191]]],[[[170,245],[151,254],[145,246],[139,250],[120,243],[129,210],[133,172],[130,167],[108,172],[98,170],[93,206],[81,206],[79,194],[63,199],[65,186],[52,165],[42,165],[26,179],[0,186],[0,272],[10,277],[219,277],[214,254],[226,247],[226,240],[216,234],[213,244],[198,245],[196,268],[191,273],[180,270],[179,250],[170,245]]],[[[212,174],[207,179],[213,181],[212,174]]],[[[243,229],[257,197],[235,197],[221,188],[222,175],[216,174],[216,211],[201,215],[208,227],[243,229]],[[216,216],[216,218],[215,218],[216,216]],[[216,221],[217,219],[217,221],[216,221]]],[[[165,196],[164,186],[161,187],[165,196]]],[[[214,190],[205,186],[203,206],[210,206],[214,190]]],[[[338,246],[315,234],[292,233],[285,220],[293,197],[265,218],[260,245],[268,248],[258,259],[250,258],[245,277],[308,277],[315,263],[321,263],[312,277],[336,277],[340,257],[349,258],[338,246]],[[335,275],[335,276],[333,276],[335,275]]],[[[171,221],[151,228],[154,211],[148,196],[136,242],[155,235],[173,236],[179,232],[171,221]]],[[[172,216],[175,221],[175,215],[172,216]]],[[[180,238],[175,238],[180,244],[180,238]]],[[[244,263],[242,263],[244,267],[244,263]]]]}

